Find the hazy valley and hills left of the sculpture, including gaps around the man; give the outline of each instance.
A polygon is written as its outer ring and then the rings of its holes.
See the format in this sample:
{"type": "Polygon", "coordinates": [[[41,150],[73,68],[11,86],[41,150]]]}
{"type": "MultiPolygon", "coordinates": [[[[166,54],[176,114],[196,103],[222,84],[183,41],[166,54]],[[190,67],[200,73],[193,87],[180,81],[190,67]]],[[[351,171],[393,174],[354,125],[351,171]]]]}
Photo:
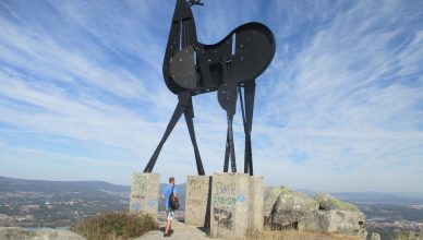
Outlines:
{"type": "MultiPolygon", "coordinates": [[[[160,184],[160,192],[166,184],[160,184]]],[[[177,185],[184,203],[185,184],[177,185]]],[[[104,181],[0,177],[0,226],[68,227],[82,218],[129,209],[131,187],[104,181]]],[[[165,209],[159,201],[159,211],[165,209]]],[[[183,211],[183,206],[181,207],[183,211]]]]}

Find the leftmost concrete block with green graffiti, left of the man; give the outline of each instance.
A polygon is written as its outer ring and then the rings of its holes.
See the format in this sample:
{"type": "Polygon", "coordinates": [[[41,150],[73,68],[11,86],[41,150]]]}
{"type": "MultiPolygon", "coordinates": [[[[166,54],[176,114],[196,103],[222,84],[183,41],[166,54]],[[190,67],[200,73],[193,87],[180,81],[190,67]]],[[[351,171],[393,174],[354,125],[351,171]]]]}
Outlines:
{"type": "Polygon", "coordinates": [[[159,197],[159,175],[134,172],[131,184],[131,213],[146,213],[157,217],[159,197]]]}

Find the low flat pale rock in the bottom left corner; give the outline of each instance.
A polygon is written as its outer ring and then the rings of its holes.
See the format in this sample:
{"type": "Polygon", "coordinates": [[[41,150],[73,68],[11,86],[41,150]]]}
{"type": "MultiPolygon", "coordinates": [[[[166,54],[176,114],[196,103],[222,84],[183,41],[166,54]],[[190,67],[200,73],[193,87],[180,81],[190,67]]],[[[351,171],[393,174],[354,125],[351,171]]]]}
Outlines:
{"type": "Polygon", "coordinates": [[[48,240],[84,240],[85,238],[76,235],[73,231],[58,230],[58,229],[39,229],[28,230],[25,228],[15,227],[3,227],[0,228],[0,239],[4,240],[36,240],[36,239],[48,239],[48,240]]]}

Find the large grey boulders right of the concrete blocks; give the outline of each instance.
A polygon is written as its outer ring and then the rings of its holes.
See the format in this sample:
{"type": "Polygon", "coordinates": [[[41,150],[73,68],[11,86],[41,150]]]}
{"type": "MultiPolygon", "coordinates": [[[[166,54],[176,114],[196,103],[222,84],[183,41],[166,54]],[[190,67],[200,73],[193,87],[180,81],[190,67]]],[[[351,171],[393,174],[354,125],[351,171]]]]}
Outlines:
{"type": "Polygon", "coordinates": [[[267,188],[265,225],[275,230],[299,229],[365,237],[365,216],[350,203],[327,193],[314,199],[287,188],[267,188]]]}

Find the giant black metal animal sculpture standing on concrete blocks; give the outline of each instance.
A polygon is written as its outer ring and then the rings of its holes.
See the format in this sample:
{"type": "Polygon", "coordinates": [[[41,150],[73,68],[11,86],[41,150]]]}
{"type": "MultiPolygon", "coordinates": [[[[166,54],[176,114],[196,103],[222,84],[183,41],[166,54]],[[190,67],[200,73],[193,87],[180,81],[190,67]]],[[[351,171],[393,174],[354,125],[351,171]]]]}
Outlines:
{"type": "Polygon", "coordinates": [[[217,91],[219,105],[227,111],[228,120],[223,172],[228,172],[229,158],[232,172],[237,171],[232,120],[239,94],[245,133],[244,172],[252,176],[251,131],[255,79],[274,58],[275,36],[267,26],[252,22],[237,27],[215,45],[201,44],[191,11],[195,4],[203,5],[200,0],[177,0],[162,71],[166,85],[178,95],[179,103],[144,172],[153,171],[162,145],[183,113],[194,146],[197,172],[204,175],[192,120],[192,96],[217,91]],[[241,88],[244,89],[245,103],[241,88]]]}

